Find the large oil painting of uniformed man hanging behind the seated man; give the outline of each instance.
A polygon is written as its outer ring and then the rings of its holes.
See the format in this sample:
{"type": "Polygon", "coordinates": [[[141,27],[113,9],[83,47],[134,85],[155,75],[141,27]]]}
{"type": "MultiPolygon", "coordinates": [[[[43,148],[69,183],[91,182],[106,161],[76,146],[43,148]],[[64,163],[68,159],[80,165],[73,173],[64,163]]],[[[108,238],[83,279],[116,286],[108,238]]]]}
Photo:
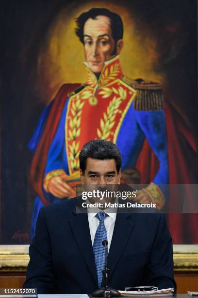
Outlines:
{"type": "MultiPolygon", "coordinates": [[[[4,260],[27,258],[39,209],[66,199],[51,179],[79,181],[90,139],[118,145],[125,182],[198,183],[197,1],[9,0],[1,9],[4,260]],[[93,29],[98,17],[109,31],[93,29]]],[[[198,214],[167,221],[175,253],[197,266],[198,214]]]]}

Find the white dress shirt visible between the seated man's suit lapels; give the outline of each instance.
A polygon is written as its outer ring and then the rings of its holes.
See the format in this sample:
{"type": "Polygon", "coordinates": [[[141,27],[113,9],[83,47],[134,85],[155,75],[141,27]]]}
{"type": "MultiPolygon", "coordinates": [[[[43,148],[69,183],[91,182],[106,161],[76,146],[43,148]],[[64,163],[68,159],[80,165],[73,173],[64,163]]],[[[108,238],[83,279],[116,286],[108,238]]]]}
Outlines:
{"type": "MultiPolygon", "coordinates": [[[[114,209],[116,211],[116,208],[114,209]]],[[[107,241],[108,241],[108,252],[109,252],[109,248],[111,245],[111,241],[112,241],[112,236],[113,236],[113,232],[114,232],[114,226],[115,226],[115,219],[116,219],[116,214],[117,213],[112,213],[112,208],[106,208],[104,210],[101,210],[99,208],[93,208],[91,209],[90,212],[90,208],[87,208],[87,215],[88,215],[88,221],[89,221],[89,230],[90,230],[90,235],[91,235],[91,242],[92,245],[94,244],[94,238],[95,238],[95,234],[97,231],[97,228],[99,226],[99,219],[96,217],[96,214],[98,212],[105,212],[107,213],[107,217],[104,219],[104,225],[105,228],[107,230],[107,241]],[[93,211],[95,211],[95,213],[92,213],[93,211]]]]}

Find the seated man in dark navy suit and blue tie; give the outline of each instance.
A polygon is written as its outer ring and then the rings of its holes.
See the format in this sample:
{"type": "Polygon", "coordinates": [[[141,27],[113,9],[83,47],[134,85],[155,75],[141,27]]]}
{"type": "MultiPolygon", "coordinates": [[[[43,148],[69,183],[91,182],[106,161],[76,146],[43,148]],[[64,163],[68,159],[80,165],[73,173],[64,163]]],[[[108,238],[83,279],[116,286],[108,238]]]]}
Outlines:
{"type": "MultiPolygon", "coordinates": [[[[120,184],[121,155],[111,142],[86,143],[80,168],[84,185],[120,184]]],[[[74,198],[41,208],[24,287],[42,294],[92,293],[103,285],[101,239],[106,238],[111,287],[176,289],[172,239],[163,214],[78,213],[76,206],[74,198]]]]}

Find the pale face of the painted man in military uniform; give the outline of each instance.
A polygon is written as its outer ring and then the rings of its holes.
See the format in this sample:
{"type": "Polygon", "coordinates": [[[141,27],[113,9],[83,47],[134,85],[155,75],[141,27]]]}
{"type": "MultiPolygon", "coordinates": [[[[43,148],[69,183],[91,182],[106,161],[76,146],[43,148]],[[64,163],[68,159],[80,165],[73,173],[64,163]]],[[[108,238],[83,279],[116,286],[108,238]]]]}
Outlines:
{"type": "Polygon", "coordinates": [[[104,62],[116,56],[112,55],[115,41],[112,37],[110,19],[106,16],[87,19],[83,37],[86,62],[92,72],[100,73],[104,62]]]}

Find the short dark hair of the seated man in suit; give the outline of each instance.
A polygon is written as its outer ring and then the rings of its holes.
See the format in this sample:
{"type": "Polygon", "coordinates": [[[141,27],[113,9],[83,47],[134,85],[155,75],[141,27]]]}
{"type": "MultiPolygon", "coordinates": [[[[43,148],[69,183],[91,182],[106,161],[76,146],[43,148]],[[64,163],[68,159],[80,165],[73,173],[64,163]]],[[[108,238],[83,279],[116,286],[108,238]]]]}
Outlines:
{"type": "Polygon", "coordinates": [[[86,160],[87,158],[94,158],[94,159],[115,159],[115,165],[117,173],[119,172],[122,164],[121,154],[117,146],[106,140],[93,140],[87,142],[83,147],[79,155],[80,159],[80,168],[82,173],[86,169],[86,160]]]}

